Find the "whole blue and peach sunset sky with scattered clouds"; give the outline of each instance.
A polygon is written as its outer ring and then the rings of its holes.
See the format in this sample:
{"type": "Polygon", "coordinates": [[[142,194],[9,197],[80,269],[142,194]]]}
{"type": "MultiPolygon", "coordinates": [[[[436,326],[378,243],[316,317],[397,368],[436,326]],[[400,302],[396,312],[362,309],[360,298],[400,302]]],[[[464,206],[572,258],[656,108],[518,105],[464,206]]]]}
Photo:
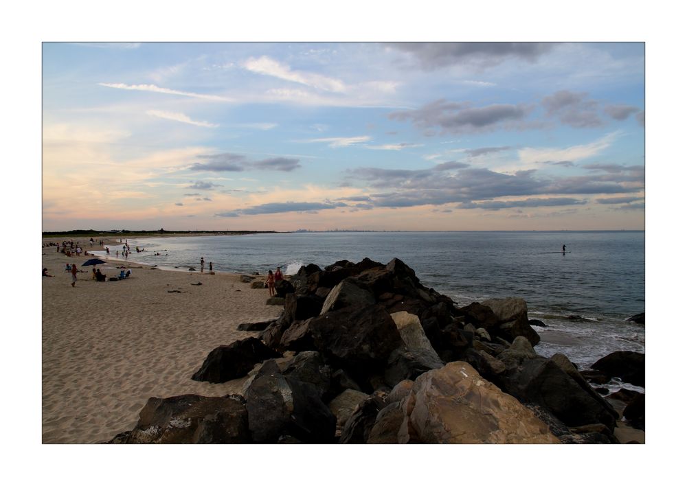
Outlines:
{"type": "Polygon", "coordinates": [[[643,43],[43,43],[43,231],[644,229],[643,43]]]}

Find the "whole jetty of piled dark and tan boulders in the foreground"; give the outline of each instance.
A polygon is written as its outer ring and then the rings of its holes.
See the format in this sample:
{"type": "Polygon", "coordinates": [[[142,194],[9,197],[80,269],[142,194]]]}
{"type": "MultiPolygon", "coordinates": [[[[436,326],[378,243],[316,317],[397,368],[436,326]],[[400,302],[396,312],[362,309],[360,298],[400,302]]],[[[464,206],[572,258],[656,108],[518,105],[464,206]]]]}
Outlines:
{"type": "Polygon", "coordinates": [[[247,376],[242,394],[150,398],[110,442],[618,443],[622,415],[644,426],[644,395],[606,400],[589,383],[643,386],[644,355],[583,372],[539,356],[543,323],[523,299],[460,307],[396,258],[310,264],[283,282],[281,316],[242,325],[259,337],[218,346],[192,376],[247,376]]]}

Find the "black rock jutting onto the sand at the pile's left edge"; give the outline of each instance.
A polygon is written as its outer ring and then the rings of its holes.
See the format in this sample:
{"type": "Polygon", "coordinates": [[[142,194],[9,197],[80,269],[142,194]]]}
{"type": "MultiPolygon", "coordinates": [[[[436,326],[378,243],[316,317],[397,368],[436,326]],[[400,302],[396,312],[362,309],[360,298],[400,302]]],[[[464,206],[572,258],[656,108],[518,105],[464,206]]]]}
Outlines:
{"type": "Polygon", "coordinates": [[[258,338],[245,338],[210,351],[191,379],[197,382],[228,382],[245,376],[257,363],[278,356],[281,355],[258,338]]]}

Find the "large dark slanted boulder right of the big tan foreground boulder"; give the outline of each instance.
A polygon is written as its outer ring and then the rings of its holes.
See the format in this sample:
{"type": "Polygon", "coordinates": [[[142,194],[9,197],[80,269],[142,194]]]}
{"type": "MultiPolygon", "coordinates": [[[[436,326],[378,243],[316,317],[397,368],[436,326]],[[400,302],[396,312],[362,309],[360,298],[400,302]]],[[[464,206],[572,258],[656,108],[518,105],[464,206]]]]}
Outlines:
{"type": "Polygon", "coordinates": [[[616,414],[601,403],[602,397],[581,386],[553,360],[541,357],[524,360],[504,373],[501,384],[506,393],[522,402],[541,405],[569,427],[587,424],[605,424],[611,430],[614,427],[616,414]]]}

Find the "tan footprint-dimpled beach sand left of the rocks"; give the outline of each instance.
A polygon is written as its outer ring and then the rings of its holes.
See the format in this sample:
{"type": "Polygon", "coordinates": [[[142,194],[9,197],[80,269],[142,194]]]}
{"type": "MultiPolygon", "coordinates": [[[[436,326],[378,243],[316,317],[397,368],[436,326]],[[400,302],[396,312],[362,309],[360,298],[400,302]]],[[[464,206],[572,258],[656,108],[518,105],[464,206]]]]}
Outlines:
{"type": "MultiPolygon", "coordinates": [[[[265,305],[267,289],[251,289],[236,274],[132,264],[131,278],[96,282],[92,267],[81,266],[89,257],[42,249],[43,268],[54,275],[42,277],[43,443],[109,441],[135,426],[150,397],[240,393],[244,379],[210,384],[191,376],[215,347],[257,335],[237,331],[240,323],[282,312],[265,305]],[[87,270],[74,288],[65,263],[87,270]]],[[[115,277],[122,264],[98,268],[115,277]]]]}

